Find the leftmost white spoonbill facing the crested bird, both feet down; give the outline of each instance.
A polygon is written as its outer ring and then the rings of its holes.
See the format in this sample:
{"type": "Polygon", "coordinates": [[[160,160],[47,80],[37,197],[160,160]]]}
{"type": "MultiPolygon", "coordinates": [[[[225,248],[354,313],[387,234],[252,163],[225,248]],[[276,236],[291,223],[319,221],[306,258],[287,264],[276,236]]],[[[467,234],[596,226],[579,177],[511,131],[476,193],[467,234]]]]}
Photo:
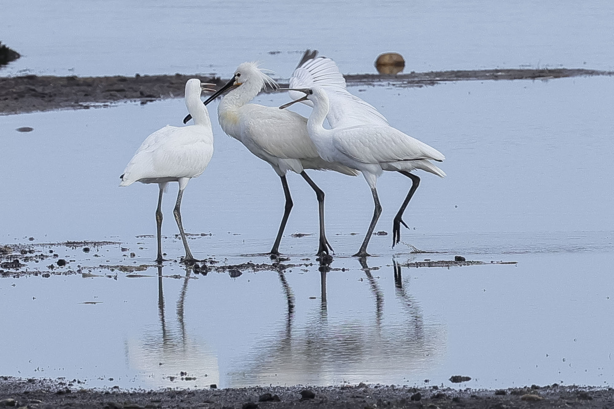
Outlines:
{"type": "Polygon", "coordinates": [[[157,183],[160,188],[158,208],[155,220],[158,233],[158,257],[161,263],[162,243],[162,193],[168,182],[179,182],[179,194],[173,210],[181,240],[184,242],[185,258],[182,262],[195,262],[185,238],[184,227],[181,224],[181,198],[185,186],[192,177],[200,176],[209,164],[213,155],[213,133],[207,108],[201,103],[202,90],[214,91],[201,84],[200,80],[192,78],[185,83],[185,106],[194,119],[194,125],[188,127],[166,127],[147,136],[123,171],[120,186],[128,186],[134,182],[157,183]]]}

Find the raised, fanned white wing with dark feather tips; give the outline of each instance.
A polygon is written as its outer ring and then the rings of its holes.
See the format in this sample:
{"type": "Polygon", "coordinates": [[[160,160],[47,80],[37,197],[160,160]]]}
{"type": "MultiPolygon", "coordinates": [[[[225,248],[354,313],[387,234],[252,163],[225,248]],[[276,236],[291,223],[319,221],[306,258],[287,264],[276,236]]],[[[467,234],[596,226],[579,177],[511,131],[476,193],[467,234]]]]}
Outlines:
{"type": "MultiPolygon", "coordinates": [[[[324,56],[307,60],[292,72],[290,88],[322,87],[328,95],[330,109],[326,119],[332,128],[354,125],[388,125],[384,115],[375,107],[348,92],[346,81],[335,61],[324,56]]],[[[304,96],[298,91],[289,91],[290,98],[304,96]]],[[[303,101],[313,107],[311,101],[303,101]]]]}

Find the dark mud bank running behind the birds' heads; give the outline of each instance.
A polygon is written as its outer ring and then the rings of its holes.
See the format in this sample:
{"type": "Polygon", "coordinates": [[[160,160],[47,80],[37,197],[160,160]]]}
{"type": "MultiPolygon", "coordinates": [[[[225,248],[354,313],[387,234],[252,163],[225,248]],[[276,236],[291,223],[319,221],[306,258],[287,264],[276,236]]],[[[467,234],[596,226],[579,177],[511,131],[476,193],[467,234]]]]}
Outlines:
{"type": "MultiPolygon", "coordinates": [[[[408,74],[349,74],[348,85],[424,87],[440,82],[465,80],[548,80],[564,77],[613,76],[612,71],[592,69],[484,69],[430,71],[408,74]]],[[[158,75],[134,77],[21,76],[0,78],[0,115],[54,109],[89,109],[121,102],[146,104],[158,99],[182,98],[185,82],[198,78],[222,85],[227,79],[213,74],[158,75]]],[[[279,80],[287,87],[287,80],[279,80]]]]}

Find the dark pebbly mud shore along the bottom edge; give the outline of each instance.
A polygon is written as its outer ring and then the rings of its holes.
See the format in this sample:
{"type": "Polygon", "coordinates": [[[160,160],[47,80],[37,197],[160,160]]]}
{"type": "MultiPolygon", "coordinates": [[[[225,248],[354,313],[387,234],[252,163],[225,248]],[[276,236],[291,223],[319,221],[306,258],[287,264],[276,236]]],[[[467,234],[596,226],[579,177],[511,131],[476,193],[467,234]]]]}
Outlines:
{"type": "MultiPolygon", "coordinates": [[[[462,386],[462,385],[461,385],[462,386]]],[[[471,389],[395,385],[327,387],[162,389],[158,391],[84,389],[81,381],[0,376],[0,407],[44,408],[611,408],[614,389],[586,386],[471,389]]]]}

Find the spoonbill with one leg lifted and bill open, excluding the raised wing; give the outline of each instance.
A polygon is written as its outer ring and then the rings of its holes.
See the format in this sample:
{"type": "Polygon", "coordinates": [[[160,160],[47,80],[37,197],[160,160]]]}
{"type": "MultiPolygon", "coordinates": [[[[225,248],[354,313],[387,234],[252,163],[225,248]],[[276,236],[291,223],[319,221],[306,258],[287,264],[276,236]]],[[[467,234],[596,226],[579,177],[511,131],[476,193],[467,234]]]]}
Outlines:
{"type": "MultiPolygon", "coordinates": [[[[445,157],[437,149],[389,125],[355,125],[325,129],[322,124],[328,113],[327,92],[320,87],[297,89],[295,91],[303,92],[305,96],[279,108],[284,109],[301,100],[312,101],[314,107],[311,115],[309,115],[307,130],[309,138],[316,145],[318,154],[328,162],[340,163],[359,170],[371,188],[375,202],[373,219],[371,219],[365,240],[362,242],[359,251],[354,254],[356,257],[366,257],[369,255],[367,253],[369,239],[381,214],[376,182],[382,171],[397,171],[409,177],[413,182],[410,192],[403,201],[397,217],[395,217],[395,222],[398,218],[405,225],[405,222],[401,219],[403,211],[405,211],[411,197],[418,189],[420,182],[419,177],[410,172],[414,169],[422,169],[437,176],[445,177],[446,174],[430,162],[431,160],[441,162],[445,157]]],[[[394,234],[400,235],[400,228],[395,229],[394,234]]]]}

